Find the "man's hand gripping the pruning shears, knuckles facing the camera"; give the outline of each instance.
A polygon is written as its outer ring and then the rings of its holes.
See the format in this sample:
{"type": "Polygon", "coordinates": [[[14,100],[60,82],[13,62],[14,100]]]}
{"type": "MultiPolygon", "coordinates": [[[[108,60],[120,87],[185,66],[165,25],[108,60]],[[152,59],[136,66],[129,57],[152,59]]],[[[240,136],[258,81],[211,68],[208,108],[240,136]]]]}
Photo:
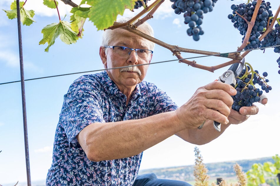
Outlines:
{"type": "Polygon", "coordinates": [[[197,128],[206,119],[227,124],[236,90],[229,84],[214,81],[198,88],[193,96],[178,108],[177,116],[185,128],[197,128]]]}

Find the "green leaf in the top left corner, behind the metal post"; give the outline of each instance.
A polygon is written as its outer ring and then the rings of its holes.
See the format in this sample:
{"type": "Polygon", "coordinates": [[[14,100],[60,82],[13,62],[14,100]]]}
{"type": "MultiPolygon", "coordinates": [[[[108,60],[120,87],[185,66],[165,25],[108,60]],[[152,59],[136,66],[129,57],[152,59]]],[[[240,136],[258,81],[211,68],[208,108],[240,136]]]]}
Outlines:
{"type": "MultiPolygon", "coordinates": [[[[36,22],[33,20],[33,16],[35,15],[34,10],[26,10],[23,7],[24,2],[19,2],[19,8],[20,8],[20,21],[23,25],[29,26],[33,22],[36,22]]],[[[6,15],[9,19],[17,18],[16,13],[16,1],[11,3],[11,10],[4,10],[6,12],[6,15]]]]}

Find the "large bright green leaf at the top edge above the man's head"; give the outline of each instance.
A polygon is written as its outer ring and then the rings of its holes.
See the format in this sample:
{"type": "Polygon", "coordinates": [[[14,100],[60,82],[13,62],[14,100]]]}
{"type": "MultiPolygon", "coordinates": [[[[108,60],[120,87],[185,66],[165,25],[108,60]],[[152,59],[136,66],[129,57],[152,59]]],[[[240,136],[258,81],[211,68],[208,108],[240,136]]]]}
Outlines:
{"type": "Polygon", "coordinates": [[[90,21],[97,30],[104,30],[112,26],[117,15],[122,15],[125,9],[132,10],[135,0],[87,0],[87,4],[92,6],[88,14],[90,21]]]}

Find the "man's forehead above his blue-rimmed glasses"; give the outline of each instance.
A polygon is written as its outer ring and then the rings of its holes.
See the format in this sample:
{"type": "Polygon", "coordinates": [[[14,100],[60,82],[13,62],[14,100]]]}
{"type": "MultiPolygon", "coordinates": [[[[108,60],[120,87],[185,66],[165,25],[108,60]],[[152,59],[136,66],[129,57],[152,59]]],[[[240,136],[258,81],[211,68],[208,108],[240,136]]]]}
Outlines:
{"type": "Polygon", "coordinates": [[[113,31],[112,40],[110,41],[110,45],[121,45],[127,47],[141,47],[141,48],[149,48],[150,41],[142,38],[139,35],[126,31],[124,29],[116,29],[113,31]]]}

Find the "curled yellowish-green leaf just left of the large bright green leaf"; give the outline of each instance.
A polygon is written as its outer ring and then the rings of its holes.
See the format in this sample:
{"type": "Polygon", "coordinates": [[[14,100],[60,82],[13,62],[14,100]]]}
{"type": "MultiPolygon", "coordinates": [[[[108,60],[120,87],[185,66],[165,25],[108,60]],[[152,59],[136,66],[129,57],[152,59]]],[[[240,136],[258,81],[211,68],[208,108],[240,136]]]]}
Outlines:
{"type": "Polygon", "coordinates": [[[74,7],[71,9],[72,16],[70,16],[71,28],[74,32],[78,33],[78,37],[82,38],[83,36],[83,26],[88,17],[88,12],[90,8],[74,7]]]}

